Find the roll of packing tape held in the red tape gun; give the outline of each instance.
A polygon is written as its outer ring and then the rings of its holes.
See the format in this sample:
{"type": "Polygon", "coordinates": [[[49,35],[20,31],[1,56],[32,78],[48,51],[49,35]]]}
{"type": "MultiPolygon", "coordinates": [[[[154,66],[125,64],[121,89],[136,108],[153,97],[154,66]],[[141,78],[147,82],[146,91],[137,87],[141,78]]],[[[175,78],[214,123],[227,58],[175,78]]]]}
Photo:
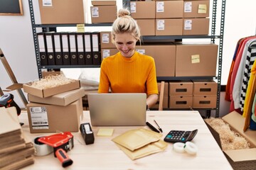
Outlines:
{"type": "Polygon", "coordinates": [[[45,156],[47,154],[50,154],[51,152],[53,152],[53,147],[46,145],[42,142],[39,142],[38,139],[40,137],[36,137],[33,140],[33,145],[35,147],[35,155],[36,156],[45,156]]]}

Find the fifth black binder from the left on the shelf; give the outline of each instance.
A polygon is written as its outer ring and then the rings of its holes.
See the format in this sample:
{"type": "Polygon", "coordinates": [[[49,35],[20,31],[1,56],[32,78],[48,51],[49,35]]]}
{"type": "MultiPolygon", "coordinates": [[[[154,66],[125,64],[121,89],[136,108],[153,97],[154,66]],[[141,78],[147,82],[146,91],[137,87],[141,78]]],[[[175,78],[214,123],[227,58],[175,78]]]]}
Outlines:
{"type": "Polygon", "coordinates": [[[75,32],[69,33],[70,42],[70,64],[78,65],[78,50],[77,50],[77,40],[75,32]]]}

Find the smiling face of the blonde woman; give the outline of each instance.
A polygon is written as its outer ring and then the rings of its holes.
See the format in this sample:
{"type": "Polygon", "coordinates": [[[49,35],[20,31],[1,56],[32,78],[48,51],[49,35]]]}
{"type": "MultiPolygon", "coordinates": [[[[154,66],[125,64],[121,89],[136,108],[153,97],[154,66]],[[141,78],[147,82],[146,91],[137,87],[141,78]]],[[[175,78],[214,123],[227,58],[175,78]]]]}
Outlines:
{"type": "Polygon", "coordinates": [[[115,35],[114,45],[124,57],[132,57],[134,55],[137,40],[130,33],[119,33],[115,35]]]}

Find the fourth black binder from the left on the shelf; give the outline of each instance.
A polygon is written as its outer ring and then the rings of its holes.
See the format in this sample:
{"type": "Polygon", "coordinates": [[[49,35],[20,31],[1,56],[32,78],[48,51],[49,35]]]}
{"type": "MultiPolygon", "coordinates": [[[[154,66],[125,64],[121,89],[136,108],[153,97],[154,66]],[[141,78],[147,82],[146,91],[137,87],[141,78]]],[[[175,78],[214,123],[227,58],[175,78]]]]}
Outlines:
{"type": "Polygon", "coordinates": [[[70,50],[68,33],[61,33],[62,52],[63,52],[63,65],[70,65],[70,50]]]}

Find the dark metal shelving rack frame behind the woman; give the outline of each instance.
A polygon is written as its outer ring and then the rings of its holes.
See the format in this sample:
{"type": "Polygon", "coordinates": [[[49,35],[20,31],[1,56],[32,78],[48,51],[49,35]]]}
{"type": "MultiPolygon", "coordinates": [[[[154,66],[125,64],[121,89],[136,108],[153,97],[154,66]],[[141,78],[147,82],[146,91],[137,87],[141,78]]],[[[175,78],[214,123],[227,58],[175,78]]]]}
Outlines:
{"type": "MultiPolygon", "coordinates": [[[[28,0],[29,10],[31,14],[31,26],[33,30],[33,40],[36,52],[36,64],[38,67],[38,77],[42,77],[41,69],[60,69],[60,68],[92,68],[100,67],[100,65],[52,65],[52,66],[41,66],[40,57],[38,52],[38,40],[36,35],[36,28],[43,28],[44,30],[49,30],[50,28],[56,27],[74,27],[75,24],[36,24],[34,13],[33,13],[33,0],[28,0]]],[[[219,107],[220,107],[220,80],[221,80],[221,67],[222,67],[222,55],[223,55],[223,35],[224,35],[224,21],[225,21],[225,1],[221,1],[220,8],[220,33],[216,34],[216,19],[218,13],[218,0],[213,0],[212,8],[212,23],[211,23],[211,34],[210,35],[161,35],[161,36],[143,36],[142,42],[169,42],[171,40],[182,40],[182,39],[210,39],[210,42],[215,43],[215,39],[219,40],[218,43],[218,74],[216,77],[157,77],[158,81],[172,81],[172,80],[188,80],[188,79],[215,79],[218,83],[218,93],[217,93],[217,104],[216,108],[206,109],[207,114],[210,114],[210,110],[215,110],[215,117],[219,117],[219,107]]],[[[123,0],[123,6],[130,8],[130,0],[123,0]]],[[[85,26],[112,26],[112,23],[97,23],[90,24],[85,23],[85,26]]]]}

